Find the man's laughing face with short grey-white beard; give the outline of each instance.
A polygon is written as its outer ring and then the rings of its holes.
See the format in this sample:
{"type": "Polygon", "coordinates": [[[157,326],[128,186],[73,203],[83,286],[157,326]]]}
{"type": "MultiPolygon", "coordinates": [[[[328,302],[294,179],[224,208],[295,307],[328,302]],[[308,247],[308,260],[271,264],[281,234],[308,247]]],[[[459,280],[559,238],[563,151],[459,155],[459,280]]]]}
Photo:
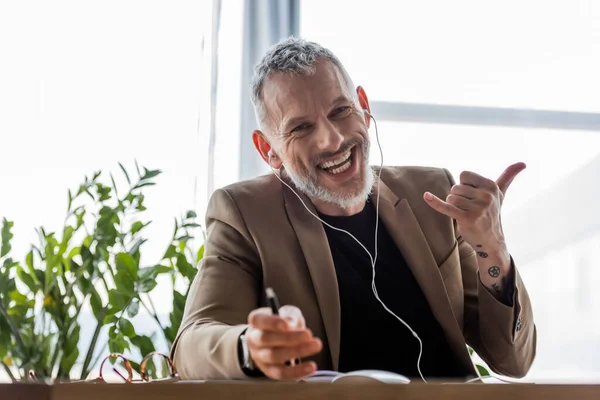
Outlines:
{"type": "Polygon", "coordinates": [[[314,67],[311,75],[278,73],[265,81],[264,134],[319,211],[354,213],[373,186],[366,120],[343,73],[327,61],[314,67]]]}

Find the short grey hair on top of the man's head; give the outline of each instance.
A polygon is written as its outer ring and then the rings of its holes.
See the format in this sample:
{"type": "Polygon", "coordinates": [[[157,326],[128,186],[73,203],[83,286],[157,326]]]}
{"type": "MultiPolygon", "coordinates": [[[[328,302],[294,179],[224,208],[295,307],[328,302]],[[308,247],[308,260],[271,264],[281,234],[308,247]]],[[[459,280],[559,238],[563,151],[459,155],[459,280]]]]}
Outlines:
{"type": "Polygon", "coordinates": [[[323,59],[339,68],[346,79],[346,83],[353,88],[354,85],[350,75],[348,75],[340,60],[331,50],[320,44],[290,36],[271,47],[254,68],[251,81],[250,96],[257,119],[260,114],[259,111],[262,110],[262,88],[269,76],[274,73],[312,75],[315,72],[315,62],[323,59]]]}

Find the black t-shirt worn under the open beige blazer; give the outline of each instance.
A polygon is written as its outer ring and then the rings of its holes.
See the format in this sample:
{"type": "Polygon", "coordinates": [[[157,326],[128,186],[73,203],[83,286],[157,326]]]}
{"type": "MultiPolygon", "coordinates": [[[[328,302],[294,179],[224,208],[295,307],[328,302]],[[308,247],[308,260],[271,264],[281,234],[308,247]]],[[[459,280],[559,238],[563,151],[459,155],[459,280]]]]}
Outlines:
{"type": "MultiPolygon", "coordinates": [[[[321,218],[352,233],[375,253],[374,205],[367,201],[358,214],[321,218]]],[[[341,303],[339,370],[392,371],[419,378],[419,342],[375,298],[373,269],[364,249],[347,233],[323,225],[331,248],[341,303]]],[[[427,377],[456,378],[469,374],[450,350],[446,336],[433,316],[421,287],[385,225],[379,220],[375,284],[381,300],[402,318],[423,341],[421,371],[427,377]]]]}

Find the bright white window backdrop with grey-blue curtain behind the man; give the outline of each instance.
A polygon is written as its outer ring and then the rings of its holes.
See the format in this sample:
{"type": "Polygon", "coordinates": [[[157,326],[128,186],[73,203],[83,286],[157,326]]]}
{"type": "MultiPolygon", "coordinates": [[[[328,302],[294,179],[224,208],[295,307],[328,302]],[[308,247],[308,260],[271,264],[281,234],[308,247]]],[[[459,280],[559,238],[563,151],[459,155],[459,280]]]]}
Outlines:
{"type": "MultiPolygon", "coordinates": [[[[266,173],[248,84],[288,35],[331,49],[365,88],[385,164],[496,179],[527,163],[503,209],[538,327],[526,380],[600,382],[595,0],[1,1],[0,217],[15,221],[14,253],[35,227],[61,226],[68,188],[118,162],[163,171],[145,192],[147,260],[174,217],[202,217],[214,189],[266,173]]],[[[170,292],[153,295],[160,314],[170,292]]]]}

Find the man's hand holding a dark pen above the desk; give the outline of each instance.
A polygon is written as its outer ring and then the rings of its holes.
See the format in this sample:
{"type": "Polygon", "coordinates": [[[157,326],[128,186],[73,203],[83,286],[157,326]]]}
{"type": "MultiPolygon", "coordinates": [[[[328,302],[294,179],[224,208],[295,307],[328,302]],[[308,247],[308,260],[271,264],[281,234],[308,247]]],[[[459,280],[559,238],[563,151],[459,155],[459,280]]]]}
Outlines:
{"type": "Polygon", "coordinates": [[[290,360],[319,353],[321,341],[306,328],[300,309],[289,305],[280,308],[271,288],[266,294],[269,307],[248,316],[246,341],[254,364],[271,379],[295,380],[312,374],[316,371],[314,362],[296,364],[290,360]]]}

